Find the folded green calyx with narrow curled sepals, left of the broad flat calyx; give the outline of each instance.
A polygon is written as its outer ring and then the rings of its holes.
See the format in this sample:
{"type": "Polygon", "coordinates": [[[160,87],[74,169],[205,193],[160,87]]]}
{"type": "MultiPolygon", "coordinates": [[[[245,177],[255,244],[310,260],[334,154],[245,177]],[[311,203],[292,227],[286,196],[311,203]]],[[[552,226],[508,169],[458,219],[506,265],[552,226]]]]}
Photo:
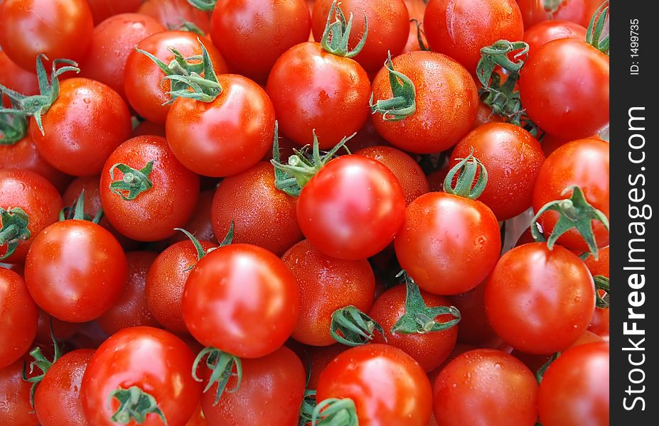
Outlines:
{"type": "Polygon", "coordinates": [[[341,307],[332,313],[330,333],[336,342],[346,346],[360,346],[373,340],[376,331],[387,342],[385,329],[353,305],[341,307]]]}

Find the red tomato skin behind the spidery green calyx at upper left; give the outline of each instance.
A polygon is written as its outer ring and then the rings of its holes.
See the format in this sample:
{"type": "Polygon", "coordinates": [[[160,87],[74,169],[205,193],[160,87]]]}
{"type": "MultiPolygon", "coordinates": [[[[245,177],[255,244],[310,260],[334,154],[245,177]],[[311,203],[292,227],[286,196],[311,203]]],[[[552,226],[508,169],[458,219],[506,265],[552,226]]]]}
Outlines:
{"type": "MultiPolygon", "coordinates": [[[[217,74],[226,74],[227,65],[217,48],[210,40],[200,37],[190,31],[161,31],[148,37],[141,38],[137,48],[151,53],[167,65],[174,59],[169,48],[174,48],[189,58],[201,55],[199,41],[204,44],[210,60],[213,62],[213,70],[217,74]]],[[[167,93],[171,90],[169,80],[164,80],[165,74],[154,61],[132,49],[126,60],[126,71],[124,75],[124,89],[126,97],[135,111],[145,119],[157,124],[165,124],[167,112],[171,101],[167,93]]]]}

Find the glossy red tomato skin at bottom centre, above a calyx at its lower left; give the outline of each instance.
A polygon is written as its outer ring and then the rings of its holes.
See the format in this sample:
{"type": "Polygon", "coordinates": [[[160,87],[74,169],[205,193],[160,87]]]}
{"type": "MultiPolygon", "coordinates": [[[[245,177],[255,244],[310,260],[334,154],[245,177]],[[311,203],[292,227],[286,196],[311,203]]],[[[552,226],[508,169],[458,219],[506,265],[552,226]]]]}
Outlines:
{"type": "Polygon", "coordinates": [[[316,400],[350,398],[363,426],[426,426],[432,389],[423,368],[394,346],[367,344],[338,355],[318,378],[316,400]]]}

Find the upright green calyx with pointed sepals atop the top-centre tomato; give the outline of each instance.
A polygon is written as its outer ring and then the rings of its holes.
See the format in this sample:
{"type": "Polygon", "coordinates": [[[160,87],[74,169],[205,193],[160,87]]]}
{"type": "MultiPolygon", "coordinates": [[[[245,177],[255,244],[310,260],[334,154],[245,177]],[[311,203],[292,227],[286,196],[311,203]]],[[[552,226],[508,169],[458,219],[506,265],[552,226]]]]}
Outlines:
{"type": "Polygon", "coordinates": [[[348,49],[348,38],[350,38],[350,31],[353,28],[353,13],[350,13],[348,22],[345,21],[345,15],[341,8],[336,6],[336,0],[332,1],[332,6],[327,14],[327,23],[325,24],[325,31],[321,38],[321,46],[323,49],[337,56],[344,58],[354,58],[358,55],[366,44],[366,37],[368,36],[368,19],[364,13],[364,35],[359,40],[359,43],[353,50],[348,49]],[[336,16],[336,20],[332,22],[332,17],[336,16]]]}

